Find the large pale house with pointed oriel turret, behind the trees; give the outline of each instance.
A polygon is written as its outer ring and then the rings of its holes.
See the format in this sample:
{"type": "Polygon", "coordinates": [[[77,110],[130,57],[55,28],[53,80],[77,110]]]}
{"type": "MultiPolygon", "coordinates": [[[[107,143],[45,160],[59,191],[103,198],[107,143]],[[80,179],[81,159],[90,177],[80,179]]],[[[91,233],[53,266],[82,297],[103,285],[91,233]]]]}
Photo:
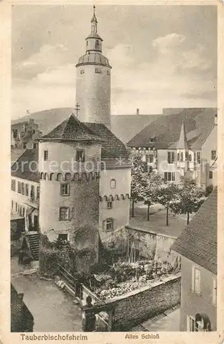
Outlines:
{"type": "Polygon", "coordinates": [[[133,153],[141,152],[149,168],[165,182],[178,183],[186,175],[203,189],[216,185],[216,109],[183,109],[177,114],[160,116],[127,145],[133,153]]]}

